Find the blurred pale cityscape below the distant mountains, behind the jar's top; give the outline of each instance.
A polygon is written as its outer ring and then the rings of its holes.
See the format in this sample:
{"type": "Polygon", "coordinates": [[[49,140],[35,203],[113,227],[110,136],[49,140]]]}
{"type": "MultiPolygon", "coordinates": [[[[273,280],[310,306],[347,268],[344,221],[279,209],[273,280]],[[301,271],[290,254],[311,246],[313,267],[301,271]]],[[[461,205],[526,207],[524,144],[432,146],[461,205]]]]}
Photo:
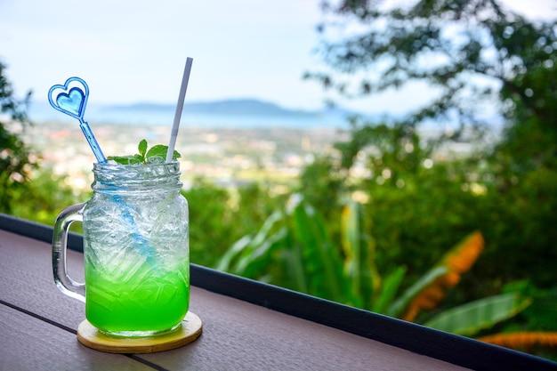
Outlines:
{"type": "MultiPolygon", "coordinates": [[[[138,153],[142,139],[168,144],[170,127],[94,125],[93,133],[106,157],[138,153]]],[[[184,187],[204,178],[222,187],[249,181],[272,181],[277,187],[295,181],[315,154],[329,153],[346,139],[335,128],[181,127],[175,149],[182,154],[184,187]]],[[[47,121],[28,127],[25,141],[42,156],[42,165],[62,176],[75,190],[89,190],[96,162],[79,124],[47,121]]],[[[278,188],[279,190],[279,188],[278,188]]]]}

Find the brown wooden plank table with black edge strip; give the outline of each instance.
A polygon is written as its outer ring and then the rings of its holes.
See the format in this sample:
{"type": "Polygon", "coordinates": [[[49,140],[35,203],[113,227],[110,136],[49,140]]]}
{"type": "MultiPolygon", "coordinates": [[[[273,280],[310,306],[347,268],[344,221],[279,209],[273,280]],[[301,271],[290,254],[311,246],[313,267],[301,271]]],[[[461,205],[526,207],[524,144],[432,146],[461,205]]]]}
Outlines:
{"type": "MultiPolygon", "coordinates": [[[[85,306],[52,279],[52,229],[0,214],[0,370],[533,370],[556,364],[222,272],[191,267],[203,335],[174,351],[94,351],[85,306]]],[[[69,245],[80,246],[79,236],[69,245]]],[[[69,251],[70,275],[83,254],[69,251]]]]}

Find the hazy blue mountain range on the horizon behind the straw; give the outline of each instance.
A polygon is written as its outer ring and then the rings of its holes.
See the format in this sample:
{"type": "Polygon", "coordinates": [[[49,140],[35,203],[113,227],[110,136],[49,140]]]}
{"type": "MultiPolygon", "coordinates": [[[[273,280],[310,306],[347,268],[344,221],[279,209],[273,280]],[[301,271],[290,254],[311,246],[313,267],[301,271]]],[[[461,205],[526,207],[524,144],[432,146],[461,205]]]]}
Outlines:
{"type": "MultiPolygon", "coordinates": [[[[134,111],[173,111],[172,104],[157,103],[134,103],[128,105],[105,106],[110,110],[134,110],[134,111]]],[[[184,104],[184,112],[189,114],[211,114],[211,115],[238,115],[238,116],[274,116],[274,117],[316,117],[323,111],[307,111],[284,109],[275,103],[259,101],[255,99],[238,99],[222,101],[187,102],[184,104]]],[[[335,109],[336,110],[336,109],[335,109]]],[[[329,112],[330,113],[330,112],[329,112]]],[[[339,110],[340,113],[340,110],[339,110]]]]}

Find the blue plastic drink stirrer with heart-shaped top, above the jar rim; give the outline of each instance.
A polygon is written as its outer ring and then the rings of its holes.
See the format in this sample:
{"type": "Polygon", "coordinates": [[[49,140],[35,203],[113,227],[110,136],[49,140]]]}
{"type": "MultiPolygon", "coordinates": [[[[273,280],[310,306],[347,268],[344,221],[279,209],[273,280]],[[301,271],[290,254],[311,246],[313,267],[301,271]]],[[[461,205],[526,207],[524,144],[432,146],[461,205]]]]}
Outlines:
{"type": "Polygon", "coordinates": [[[91,127],[83,119],[88,97],[89,86],[79,77],[69,77],[64,85],[53,85],[48,91],[48,101],[54,109],[79,120],[81,131],[85,134],[97,161],[102,164],[107,162],[107,159],[102,154],[101,147],[99,147],[91,127]]]}

